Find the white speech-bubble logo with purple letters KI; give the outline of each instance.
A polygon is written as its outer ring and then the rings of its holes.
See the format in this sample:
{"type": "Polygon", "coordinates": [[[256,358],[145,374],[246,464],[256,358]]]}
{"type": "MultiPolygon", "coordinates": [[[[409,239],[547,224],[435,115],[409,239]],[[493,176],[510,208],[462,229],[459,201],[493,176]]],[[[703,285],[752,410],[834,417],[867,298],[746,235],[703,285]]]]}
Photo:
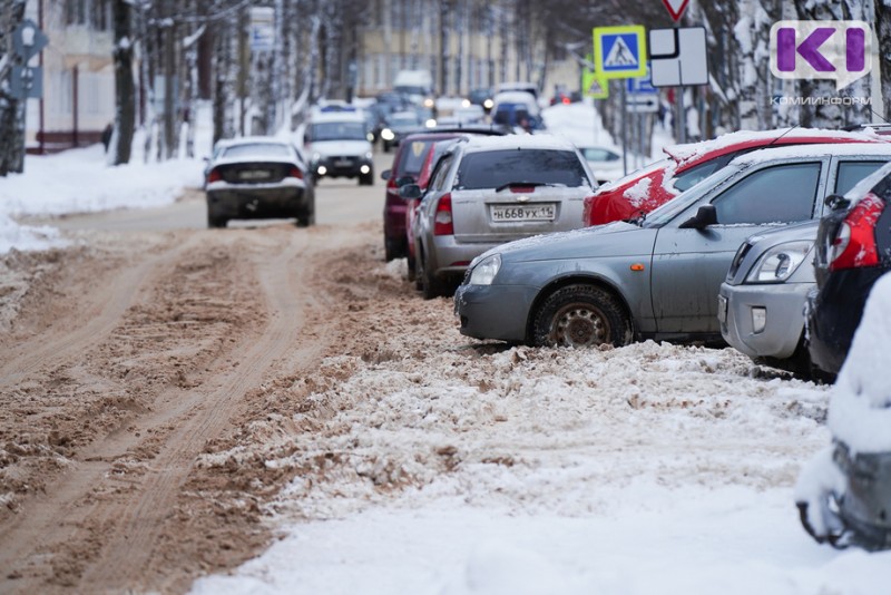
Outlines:
{"type": "Polygon", "coordinates": [[[771,72],[833,79],[839,90],[869,74],[872,48],[864,21],[780,21],[771,27],[771,72]]]}

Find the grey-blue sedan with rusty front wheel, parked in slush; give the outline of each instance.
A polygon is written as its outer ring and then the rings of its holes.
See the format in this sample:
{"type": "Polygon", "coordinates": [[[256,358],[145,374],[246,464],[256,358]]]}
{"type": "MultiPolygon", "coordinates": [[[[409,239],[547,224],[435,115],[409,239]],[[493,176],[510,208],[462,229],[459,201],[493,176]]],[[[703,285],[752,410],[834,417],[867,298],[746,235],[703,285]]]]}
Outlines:
{"type": "Polygon", "coordinates": [[[819,217],[830,179],[852,158],[891,160],[891,145],[755,152],[635,223],[498,246],[456,292],[461,333],[535,345],[723,344],[717,294],[736,248],[819,217]]]}

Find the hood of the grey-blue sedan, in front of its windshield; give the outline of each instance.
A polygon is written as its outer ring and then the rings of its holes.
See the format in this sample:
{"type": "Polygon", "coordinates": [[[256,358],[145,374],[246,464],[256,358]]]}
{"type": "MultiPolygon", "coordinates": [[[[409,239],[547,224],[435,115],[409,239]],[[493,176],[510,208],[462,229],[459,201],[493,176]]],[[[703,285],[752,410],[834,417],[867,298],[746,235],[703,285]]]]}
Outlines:
{"type": "Polygon", "coordinates": [[[616,222],[508,242],[489,250],[480,260],[490,254],[501,254],[502,262],[652,254],[655,232],[616,222]]]}

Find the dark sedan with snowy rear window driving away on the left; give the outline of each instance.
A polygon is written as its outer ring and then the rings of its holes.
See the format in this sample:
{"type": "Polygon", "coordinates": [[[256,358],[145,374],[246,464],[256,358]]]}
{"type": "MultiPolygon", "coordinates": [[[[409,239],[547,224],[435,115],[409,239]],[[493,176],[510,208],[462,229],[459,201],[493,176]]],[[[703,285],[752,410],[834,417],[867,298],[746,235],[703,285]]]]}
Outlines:
{"type": "Polygon", "coordinates": [[[315,223],[315,193],[306,163],[286,140],[244,137],[221,140],[208,162],[207,226],[231,220],[295,217],[315,223]]]}

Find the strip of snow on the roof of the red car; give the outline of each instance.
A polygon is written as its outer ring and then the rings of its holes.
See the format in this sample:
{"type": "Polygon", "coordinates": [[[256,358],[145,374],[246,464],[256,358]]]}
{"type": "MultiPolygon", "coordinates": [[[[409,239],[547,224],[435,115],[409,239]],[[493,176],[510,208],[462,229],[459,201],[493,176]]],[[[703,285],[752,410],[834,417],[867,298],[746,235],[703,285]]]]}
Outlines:
{"type": "Polygon", "coordinates": [[[888,137],[882,137],[873,130],[849,133],[845,130],[830,130],[822,128],[780,128],[776,130],[740,130],[721,135],[711,140],[701,143],[687,143],[684,145],[670,145],[663,148],[667,155],[677,162],[687,162],[702,157],[711,153],[728,153],[737,145],[746,143],[756,144],[760,142],[776,140],[781,144],[794,143],[797,139],[813,138],[839,138],[851,142],[870,143],[875,140],[888,142],[888,137]]]}

